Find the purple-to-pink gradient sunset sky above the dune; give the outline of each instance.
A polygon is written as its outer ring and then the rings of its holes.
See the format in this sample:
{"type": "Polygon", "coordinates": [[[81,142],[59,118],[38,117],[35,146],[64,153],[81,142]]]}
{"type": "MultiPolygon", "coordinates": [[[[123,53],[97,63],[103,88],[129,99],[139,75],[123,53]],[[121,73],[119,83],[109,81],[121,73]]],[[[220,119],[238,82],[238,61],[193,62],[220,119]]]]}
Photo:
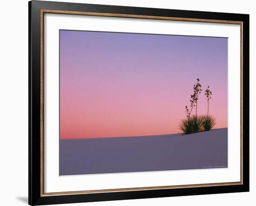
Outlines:
{"type": "Polygon", "coordinates": [[[60,138],[179,133],[196,78],[227,127],[227,38],[61,30],[60,138]]]}

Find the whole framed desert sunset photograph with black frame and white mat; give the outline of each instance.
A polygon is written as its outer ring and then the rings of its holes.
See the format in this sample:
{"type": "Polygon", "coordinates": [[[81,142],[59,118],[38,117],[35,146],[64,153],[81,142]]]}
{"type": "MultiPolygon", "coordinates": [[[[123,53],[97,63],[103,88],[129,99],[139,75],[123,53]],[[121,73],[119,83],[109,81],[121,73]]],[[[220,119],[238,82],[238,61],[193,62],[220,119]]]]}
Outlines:
{"type": "Polygon", "coordinates": [[[249,191],[249,14],[28,6],[30,205],[249,191]]]}

